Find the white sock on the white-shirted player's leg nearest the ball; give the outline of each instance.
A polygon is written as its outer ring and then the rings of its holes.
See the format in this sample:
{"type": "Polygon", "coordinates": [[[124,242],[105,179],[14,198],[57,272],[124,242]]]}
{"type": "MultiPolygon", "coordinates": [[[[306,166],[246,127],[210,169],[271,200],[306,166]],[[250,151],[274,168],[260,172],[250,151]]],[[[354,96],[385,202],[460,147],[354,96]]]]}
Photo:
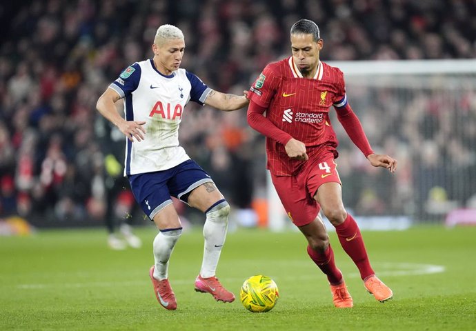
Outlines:
{"type": "Polygon", "coordinates": [[[213,277],[217,271],[221,248],[226,238],[228,214],[230,214],[230,205],[226,200],[222,200],[206,213],[204,260],[200,270],[200,276],[203,278],[213,277]]]}

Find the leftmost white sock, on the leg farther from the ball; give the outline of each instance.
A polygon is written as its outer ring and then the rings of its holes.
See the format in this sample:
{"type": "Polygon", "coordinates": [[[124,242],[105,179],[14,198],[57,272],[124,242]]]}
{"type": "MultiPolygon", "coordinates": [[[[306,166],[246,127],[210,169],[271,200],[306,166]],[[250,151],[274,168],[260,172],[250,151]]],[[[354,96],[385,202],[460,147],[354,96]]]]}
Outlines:
{"type": "Polygon", "coordinates": [[[182,229],[167,229],[160,231],[154,239],[154,278],[163,280],[168,278],[168,260],[179,240],[182,229]]]}

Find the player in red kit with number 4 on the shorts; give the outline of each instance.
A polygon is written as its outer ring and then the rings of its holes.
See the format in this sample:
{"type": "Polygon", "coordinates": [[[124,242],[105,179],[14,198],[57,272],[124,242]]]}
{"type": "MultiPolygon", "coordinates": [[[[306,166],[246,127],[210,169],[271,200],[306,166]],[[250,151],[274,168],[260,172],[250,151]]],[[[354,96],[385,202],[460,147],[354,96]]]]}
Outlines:
{"type": "Polygon", "coordinates": [[[347,101],[344,75],[319,61],[324,41],[313,21],[290,30],[292,57],[268,64],[250,88],[248,123],[266,136],[267,168],[288,216],[308,240],[308,254],[326,274],[337,308],[353,306],[319,210],[335,226],[339,241],[375,299],[393,292],[370,266],[355,220],[344,209],[337,173],[337,137],[329,119],[334,106],[348,136],[374,167],[395,172],[397,160],[375,154],[347,101]],[[266,112],[266,115],[264,115],[266,112]]]}

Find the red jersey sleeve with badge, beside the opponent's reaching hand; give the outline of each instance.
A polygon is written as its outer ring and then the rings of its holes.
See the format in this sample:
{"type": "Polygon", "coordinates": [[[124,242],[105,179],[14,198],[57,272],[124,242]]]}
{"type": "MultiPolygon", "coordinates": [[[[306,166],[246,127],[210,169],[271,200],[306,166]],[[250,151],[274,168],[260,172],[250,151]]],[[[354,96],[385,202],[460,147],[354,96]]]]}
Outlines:
{"type": "Polygon", "coordinates": [[[279,77],[273,67],[268,64],[250,87],[249,99],[260,107],[268,108],[278,85],[279,77]]]}

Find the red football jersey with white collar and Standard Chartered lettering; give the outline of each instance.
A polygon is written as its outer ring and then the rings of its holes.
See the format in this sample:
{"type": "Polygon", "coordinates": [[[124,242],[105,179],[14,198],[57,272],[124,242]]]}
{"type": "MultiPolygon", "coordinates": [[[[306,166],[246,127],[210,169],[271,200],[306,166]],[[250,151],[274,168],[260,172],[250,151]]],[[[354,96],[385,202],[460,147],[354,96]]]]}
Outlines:
{"type": "MultiPolygon", "coordinates": [[[[347,104],[344,74],[319,61],[313,79],[304,78],[292,57],[270,63],[250,88],[250,100],[268,108],[266,118],[306,145],[309,161],[332,150],[337,137],[329,120],[330,106],[347,104]]],[[[268,169],[277,176],[296,174],[306,161],[290,159],[283,143],[266,137],[268,169]]]]}

